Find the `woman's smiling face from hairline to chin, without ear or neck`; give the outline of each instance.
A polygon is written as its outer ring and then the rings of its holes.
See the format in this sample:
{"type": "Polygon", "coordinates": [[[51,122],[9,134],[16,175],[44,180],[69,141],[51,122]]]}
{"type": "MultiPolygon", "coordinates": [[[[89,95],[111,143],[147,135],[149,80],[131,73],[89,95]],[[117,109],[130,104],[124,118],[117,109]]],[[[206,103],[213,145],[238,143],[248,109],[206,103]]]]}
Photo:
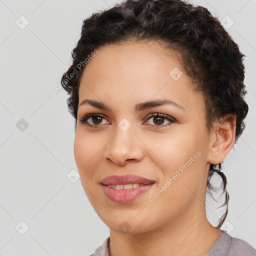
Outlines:
{"type": "Polygon", "coordinates": [[[170,51],[144,42],[102,46],[86,64],[74,156],[90,203],[111,229],[140,233],[204,214],[210,136],[204,102],[182,72],[170,51]],[[141,104],[157,100],[172,103],[141,104]],[[84,119],[88,113],[100,116],[84,119]],[[128,174],[149,181],[120,178],[128,174]],[[103,180],[111,175],[119,178],[103,180]]]}

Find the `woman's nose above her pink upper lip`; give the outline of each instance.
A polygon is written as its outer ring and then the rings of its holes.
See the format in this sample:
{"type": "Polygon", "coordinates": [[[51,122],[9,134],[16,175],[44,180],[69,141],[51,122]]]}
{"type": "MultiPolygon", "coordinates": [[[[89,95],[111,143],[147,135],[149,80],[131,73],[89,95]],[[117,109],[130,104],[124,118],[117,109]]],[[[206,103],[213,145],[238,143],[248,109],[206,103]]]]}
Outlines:
{"type": "Polygon", "coordinates": [[[130,161],[141,161],[144,156],[143,143],[134,135],[131,128],[123,131],[117,126],[116,133],[108,142],[103,156],[107,161],[121,166],[130,161]]]}

